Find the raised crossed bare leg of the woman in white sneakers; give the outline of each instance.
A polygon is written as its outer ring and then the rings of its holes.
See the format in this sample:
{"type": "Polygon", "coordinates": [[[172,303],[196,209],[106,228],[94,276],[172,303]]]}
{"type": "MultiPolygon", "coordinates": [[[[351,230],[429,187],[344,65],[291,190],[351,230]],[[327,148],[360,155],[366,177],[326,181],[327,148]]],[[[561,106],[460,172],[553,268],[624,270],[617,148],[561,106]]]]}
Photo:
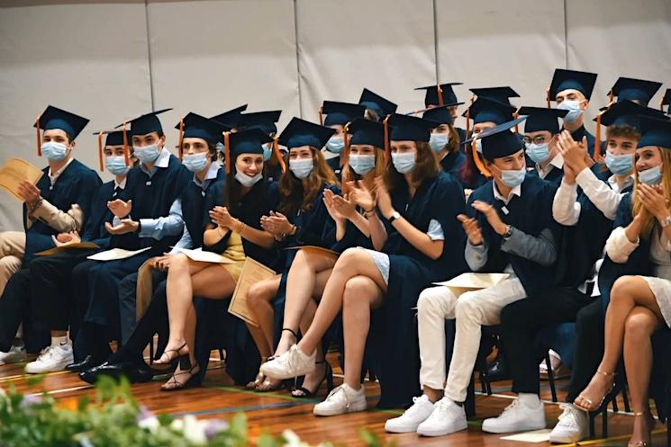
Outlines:
{"type": "Polygon", "coordinates": [[[342,308],[345,284],[355,276],[367,276],[376,283],[383,294],[386,293],[385,281],[377,270],[373,258],[361,248],[346,250],[340,255],[338,262],[333,267],[331,278],[329,278],[329,282],[326,283],[324,288],[322,301],[314,315],[313,324],[298,344],[303,353],[313,353],[317,345],[320,344],[322,336],[342,308]]]}

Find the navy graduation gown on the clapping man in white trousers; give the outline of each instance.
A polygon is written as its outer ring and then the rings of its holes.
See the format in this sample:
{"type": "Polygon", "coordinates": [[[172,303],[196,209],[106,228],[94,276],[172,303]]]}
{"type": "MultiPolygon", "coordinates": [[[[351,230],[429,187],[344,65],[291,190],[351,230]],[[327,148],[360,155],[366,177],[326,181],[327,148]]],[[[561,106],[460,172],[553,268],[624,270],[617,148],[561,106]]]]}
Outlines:
{"type": "Polygon", "coordinates": [[[561,232],[558,224],[552,219],[552,201],[557,187],[537,176],[527,174],[524,182],[521,183],[521,196],[513,196],[508,205],[505,205],[503,201],[494,199],[492,182],[490,180],[485,183],[468,198],[468,213],[478,220],[488,246],[487,262],[480,272],[501,273],[508,264],[511,264],[524,290],[529,295],[557,285],[556,263],[545,267],[521,256],[503,252],[500,249],[503,237],[494,232],[483,213],[470,207],[474,201],[490,203],[494,205],[504,223],[530,236],[537,237],[543,229],[549,228],[552,230],[559,251],[562,244],[561,232]]]}

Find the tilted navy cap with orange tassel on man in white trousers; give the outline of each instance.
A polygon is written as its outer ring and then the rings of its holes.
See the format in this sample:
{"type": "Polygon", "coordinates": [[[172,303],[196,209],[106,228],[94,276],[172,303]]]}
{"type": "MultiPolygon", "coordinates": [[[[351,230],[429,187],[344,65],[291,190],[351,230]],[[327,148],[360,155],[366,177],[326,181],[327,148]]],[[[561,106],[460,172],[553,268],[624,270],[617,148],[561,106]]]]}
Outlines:
{"type": "Polygon", "coordinates": [[[491,177],[492,173],[485,167],[485,164],[480,160],[480,156],[477,154],[476,139],[479,139],[482,142],[482,156],[487,160],[494,160],[494,158],[501,158],[503,156],[511,156],[522,149],[522,143],[519,137],[515,135],[511,129],[524,120],[526,120],[526,117],[503,122],[493,128],[483,130],[476,136],[465,141],[465,143],[471,144],[473,160],[483,175],[491,177]]]}

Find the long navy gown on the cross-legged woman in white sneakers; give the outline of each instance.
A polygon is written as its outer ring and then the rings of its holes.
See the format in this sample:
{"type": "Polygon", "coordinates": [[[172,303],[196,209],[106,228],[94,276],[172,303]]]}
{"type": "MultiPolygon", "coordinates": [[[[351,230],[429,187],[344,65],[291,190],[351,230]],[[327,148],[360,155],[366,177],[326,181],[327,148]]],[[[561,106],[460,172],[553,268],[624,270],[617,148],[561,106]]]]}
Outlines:
{"type": "Polygon", "coordinates": [[[457,220],[466,212],[464,192],[449,174],[427,179],[410,197],[405,183],[390,192],[394,210],[415,228],[429,230],[431,219],[440,223],[445,241],[436,260],[423,255],[388,222],[382,252],[389,255],[389,284],[383,306],[372,312],[367,356],[380,381],[378,407],[404,407],[420,390],[419,342],[414,323],[417,299],[432,282],[443,281],[467,269],[466,235],[457,220]]]}

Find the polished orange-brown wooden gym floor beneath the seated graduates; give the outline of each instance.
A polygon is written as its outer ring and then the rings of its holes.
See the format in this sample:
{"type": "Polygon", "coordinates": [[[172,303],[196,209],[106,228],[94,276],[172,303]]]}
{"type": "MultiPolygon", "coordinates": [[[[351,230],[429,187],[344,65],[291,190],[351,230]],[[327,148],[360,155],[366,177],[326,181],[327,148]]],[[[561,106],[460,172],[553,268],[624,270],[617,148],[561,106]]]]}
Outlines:
{"type": "MultiPolygon", "coordinates": [[[[31,359],[32,360],[32,359],[31,359]]],[[[330,358],[335,365],[335,358],[330,358]]],[[[340,375],[340,368],[335,373],[340,375]]],[[[341,377],[341,376],[340,376],[341,377]]],[[[336,384],[341,378],[336,378],[336,384]]],[[[309,443],[331,441],[340,445],[362,445],[358,439],[358,429],[362,426],[373,430],[386,440],[394,440],[398,446],[546,446],[550,443],[521,443],[503,441],[499,434],[484,434],[480,430],[482,420],[486,417],[498,416],[511,402],[510,382],[493,383],[494,396],[476,397],[476,420],[469,421],[468,430],[439,438],[419,438],[415,434],[385,434],[385,420],[400,414],[400,411],[377,410],[374,408],[379,396],[379,387],[375,382],[367,382],[367,397],[372,409],[367,412],[328,418],[313,416],[313,404],[317,400],[292,398],[287,391],[272,393],[257,393],[240,387],[233,387],[231,379],[226,375],[218,354],[213,352],[210,369],[202,388],[186,389],[177,392],[160,392],[159,386],[165,379],[150,383],[134,385],[134,396],[150,410],[157,413],[168,413],[171,416],[193,414],[202,418],[227,419],[235,413],[244,412],[249,421],[250,434],[257,435],[262,431],[271,434],[280,434],[290,428],[309,443]]],[[[47,391],[52,397],[63,401],[65,405],[74,404],[83,395],[93,395],[93,387],[79,380],[75,374],[68,372],[54,372],[48,374],[38,386],[31,387],[23,376],[23,364],[0,366],[0,386],[6,388],[13,383],[17,389],[27,393],[47,391]]],[[[563,390],[567,380],[558,380],[558,397],[562,400],[566,392],[563,390]]],[[[478,387],[479,389],[479,387],[478,387]]],[[[321,390],[323,398],[325,389],[321,390]]],[[[550,391],[547,382],[541,384],[541,398],[550,401],[550,391]]],[[[622,405],[620,405],[622,408],[622,405]]],[[[557,422],[561,413],[558,404],[546,406],[548,426],[557,422]]],[[[609,435],[607,439],[595,439],[579,443],[578,445],[591,446],[626,446],[629,440],[632,416],[620,412],[609,415],[609,435]]],[[[600,438],[601,419],[597,419],[597,438],[600,438]]],[[[666,431],[664,426],[657,425],[654,434],[654,445],[666,445],[666,431]]],[[[573,444],[570,444],[573,445],[573,444]]]]}

